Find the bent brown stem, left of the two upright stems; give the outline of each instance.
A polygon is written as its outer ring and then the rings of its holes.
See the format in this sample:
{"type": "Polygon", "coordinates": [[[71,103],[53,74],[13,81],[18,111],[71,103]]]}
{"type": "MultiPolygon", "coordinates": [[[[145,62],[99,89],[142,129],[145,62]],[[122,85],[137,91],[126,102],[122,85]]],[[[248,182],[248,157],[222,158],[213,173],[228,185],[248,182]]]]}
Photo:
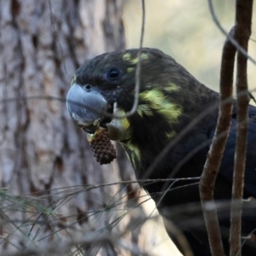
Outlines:
{"type": "MultiPolygon", "coordinates": [[[[233,33],[234,30],[232,29],[230,31],[230,36],[232,36],[233,33]]],[[[224,44],[220,70],[218,124],[212,139],[212,145],[207,156],[200,183],[201,205],[207,226],[207,234],[212,256],[224,255],[213,191],[220,162],[224,153],[228,131],[230,130],[233,102],[229,101],[226,104],[222,104],[222,102],[232,96],[235,55],[236,48],[227,39],[224,44]],[[218,135],[221,133],[224,133],[224,136],[219,137],[218,135]]]]}

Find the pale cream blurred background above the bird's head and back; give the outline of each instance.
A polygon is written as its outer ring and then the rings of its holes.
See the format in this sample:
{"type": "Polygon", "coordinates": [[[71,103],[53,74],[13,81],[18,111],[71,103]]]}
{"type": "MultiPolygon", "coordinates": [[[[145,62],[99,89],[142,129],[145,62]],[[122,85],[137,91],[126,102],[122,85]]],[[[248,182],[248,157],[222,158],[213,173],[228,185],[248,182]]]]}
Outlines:
{"type": "MultiPolygon", "coordinates": [[[[205,0],[147,0],[144,47],[159,48],[213,90],[218,90],[220,61],[225,36],[212,20],[205,0]]],[[[234,26],[235,0],[212,1],[226,32],[234,26]]],[[[137,48],[142,24],[141,2],[125,0],[124,20],[127,48],[137,48]]],[[[256,5],[254,4],[254,12],[256,5]]],[[[249,54],[256,56],[256,15],[249,54]]],[[[248,61],[248,83],[256,88],[256,67],[248,61]]]]}

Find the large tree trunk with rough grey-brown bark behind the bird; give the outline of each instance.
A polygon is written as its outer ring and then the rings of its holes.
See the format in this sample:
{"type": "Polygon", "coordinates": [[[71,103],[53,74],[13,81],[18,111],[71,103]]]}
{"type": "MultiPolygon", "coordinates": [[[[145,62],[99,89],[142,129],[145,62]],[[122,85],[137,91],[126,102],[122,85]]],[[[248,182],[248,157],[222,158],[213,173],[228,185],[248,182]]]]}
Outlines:
{"type": "Polygon", "coordinates": [[[79,65],[125,48],[121,15],[119,0],[0,1],[1,254],[125,255],[112,239],[122,230],[114,210],[125,212],[135,186],[89,184],[133,171],[123,151],[96,163],[65,104],[79,65]]]}

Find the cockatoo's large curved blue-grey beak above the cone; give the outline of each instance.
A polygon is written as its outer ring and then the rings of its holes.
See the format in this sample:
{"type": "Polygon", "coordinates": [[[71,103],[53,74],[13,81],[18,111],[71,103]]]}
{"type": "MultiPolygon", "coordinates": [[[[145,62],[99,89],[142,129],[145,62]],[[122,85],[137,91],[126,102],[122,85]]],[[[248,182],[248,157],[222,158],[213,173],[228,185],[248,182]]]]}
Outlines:
{"type": "Polygon", "coordinates": [[[99,91],[73,84],[67,92],[67,110],[83,130],[93,133],[108,110],[108,102],[99,91]]]}

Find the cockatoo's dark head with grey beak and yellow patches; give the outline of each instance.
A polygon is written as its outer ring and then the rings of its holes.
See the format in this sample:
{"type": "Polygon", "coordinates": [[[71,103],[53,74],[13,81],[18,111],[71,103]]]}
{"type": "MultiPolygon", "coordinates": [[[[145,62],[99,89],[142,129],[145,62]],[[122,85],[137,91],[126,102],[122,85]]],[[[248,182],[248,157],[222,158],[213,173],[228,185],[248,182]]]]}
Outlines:
{"type": "Polygon", "coordinates": [[[134,103],[137,62],[138,49],[98,55],[79,67],[67,94],[72,119],[90,133],[99,126],[107,128],[110,139],[123,144],[133,166],[148,147],[148,154],[157,154],[175,137],[184,109],[190,108],[189,102],[197,104],[195,94],[201,88],[172,57],[144,48],[137,110],[125,116],[134,103]]]}

